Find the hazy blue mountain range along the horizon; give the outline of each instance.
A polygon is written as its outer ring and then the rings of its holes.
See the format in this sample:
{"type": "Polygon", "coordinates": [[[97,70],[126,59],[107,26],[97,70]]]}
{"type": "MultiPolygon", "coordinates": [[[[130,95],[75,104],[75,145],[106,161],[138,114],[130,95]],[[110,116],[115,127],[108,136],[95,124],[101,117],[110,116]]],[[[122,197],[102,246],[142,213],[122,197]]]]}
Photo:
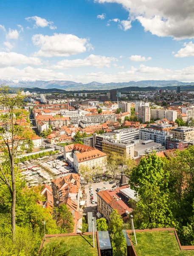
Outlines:
{"type": "Polygon", "coordinates": [[[59,81],[59,80],[20,80],[20,81],[12,81],[6,79],[0,79],[0,84],[6,84],[10,87],[22,87],[22,88],[34,88],[39,87],[42,89],[62,89],[62,90],[110,90],[115,88],[123,88],[123,87],[173,87],[173,86],[186,86],[193,85],[192,83],[184,83],[180,81],[166,81],[166,80],[145,80],[145,81],[129,81],[129,82],[120,82],[120,83],[98,83],[91,82],[88,84],[76,83],[74,81],[59,81]]]}

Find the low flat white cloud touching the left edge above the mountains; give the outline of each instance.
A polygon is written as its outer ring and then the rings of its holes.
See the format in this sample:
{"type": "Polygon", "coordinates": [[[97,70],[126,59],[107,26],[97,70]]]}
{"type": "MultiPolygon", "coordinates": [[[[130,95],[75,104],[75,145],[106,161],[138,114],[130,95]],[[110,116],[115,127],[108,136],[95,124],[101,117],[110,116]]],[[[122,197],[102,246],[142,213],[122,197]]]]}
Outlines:
{"type": "MultiPolygon", "coordinates": [[[[8,43],[8,42],[5,42],[5,43],[8,43]]],[[[7,45],[6,47],[8,47],[7,45]]],[[[14,67],[14,66],[25,65],[25,64],[32,65],[32,66],[39,66],[42,63],[39,58],[27,57],[25,55],[22,55],[16,52],[0,52],[0,68],[14,67]]]]}

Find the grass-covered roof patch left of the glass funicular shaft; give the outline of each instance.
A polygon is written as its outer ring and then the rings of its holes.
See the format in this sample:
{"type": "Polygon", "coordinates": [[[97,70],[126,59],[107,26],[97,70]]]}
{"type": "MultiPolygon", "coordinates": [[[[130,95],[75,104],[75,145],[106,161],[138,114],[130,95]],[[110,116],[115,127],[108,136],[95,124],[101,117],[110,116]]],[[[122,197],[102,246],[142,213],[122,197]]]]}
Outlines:
{"type": "MultiPolygon", "coordinates": [[[[61,242],[60,251],[65,253],[70,250],[68,256],[98,256],[97,239],[95,235],[95,248],[93,248],[93,236],[63,236],[49,237],[43,245],[44,249],[51,247],[52,243],[61,242]]],[[[46,255],[46,254],[45,254],[46,255]]]]}

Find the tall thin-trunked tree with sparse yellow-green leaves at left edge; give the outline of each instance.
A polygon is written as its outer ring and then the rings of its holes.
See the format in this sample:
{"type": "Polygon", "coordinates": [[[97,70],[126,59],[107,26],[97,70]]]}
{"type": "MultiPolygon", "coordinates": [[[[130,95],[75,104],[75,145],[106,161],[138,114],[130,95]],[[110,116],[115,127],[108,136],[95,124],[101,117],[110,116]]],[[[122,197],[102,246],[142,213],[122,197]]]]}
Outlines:
{"type": "Polygon", "coordinates": [[[3,105],[8,111],[7,114],[1,114],[0,127],[1,148],[4,151],[4,162],[0,165],[0,180],[8,186],[11,194],[11,228],[14,239],[16,225],[16,166],[15,159],[19,152],[18,147],[23,141],[28,141],[33,136],[33,131],[25,126],[21,126],[22,116],[26,116],[26,111],[22,110],[23,97],[20,93],[15,97],[9,97],[9,87],[0,87],[0,105],[3,105]],[[16,109],[20,109],[20,118],[15,122],[16,109]],[[9,136],[11,139],[9,138],[9,136]],[[10,182],[11,180],[11,182],[10,182]]]}

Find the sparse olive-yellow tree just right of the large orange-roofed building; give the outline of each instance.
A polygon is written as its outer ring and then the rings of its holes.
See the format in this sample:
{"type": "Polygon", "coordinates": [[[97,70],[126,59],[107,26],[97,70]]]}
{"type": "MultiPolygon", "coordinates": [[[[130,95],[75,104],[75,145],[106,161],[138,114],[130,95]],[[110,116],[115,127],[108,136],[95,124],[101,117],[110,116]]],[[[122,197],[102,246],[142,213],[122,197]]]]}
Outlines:
{"type": "Polygon", "coordinates": [[[112,152],[107,159],[107,167],[112,174],[113,178],[117,172],[120,172],[119,166],[122,164],[123,158],[116,152],[112,152]]]}

